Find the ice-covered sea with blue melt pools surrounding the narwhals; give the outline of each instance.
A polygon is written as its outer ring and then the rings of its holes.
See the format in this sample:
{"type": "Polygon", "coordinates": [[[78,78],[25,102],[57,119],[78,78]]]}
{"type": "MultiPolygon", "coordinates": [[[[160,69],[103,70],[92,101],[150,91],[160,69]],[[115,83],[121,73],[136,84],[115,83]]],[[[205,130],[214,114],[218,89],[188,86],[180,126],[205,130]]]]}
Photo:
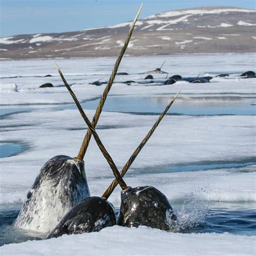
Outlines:
{"type": "MultiPolygon", "coordinates": [[[[129,57],[122,60],[97,131],[119,170],[174,94],[169,113],[125,176],[128,185],[152,185],[170,200],[183,229],[109,227],[98,233],[45,234],[11,226],[43,164],[77,156],[87,131],[49,59],[1,60],[1,255],[255,255],[256,79],[253,54],[129,57]],[[212,76],[211,83],[127,85],[142,81],[166,60],[169,76],[212,76]],[[229,73],[229,77],[216,77],[229,73]],[[51,77],[44,77],[52,75],[51,77]],[[55,87],[39,88],[44,83],[55,87]]],[[[56,59],[84,110],[93,117],[115,58],[56,59]]],[[[154,75],[163,80],[164,75],[154,75]]],[[[85,156],[91,195],[113,179],[92,139],[85,156]]],[[[109,199],[118,208],[120,188],[109,199]]]]}

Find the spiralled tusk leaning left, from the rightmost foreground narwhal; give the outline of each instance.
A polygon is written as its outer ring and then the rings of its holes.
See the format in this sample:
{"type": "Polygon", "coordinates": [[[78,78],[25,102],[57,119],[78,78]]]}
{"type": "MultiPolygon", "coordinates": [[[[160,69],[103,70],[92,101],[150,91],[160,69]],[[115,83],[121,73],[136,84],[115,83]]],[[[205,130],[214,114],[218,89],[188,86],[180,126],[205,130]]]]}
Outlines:
{"type": "Polygon", "coordinates": [[[66,82],[66,79],[63,76],[62,71],[60,71],[58,65],[55,63],[55,61],[53,60],[53,63],[56,65],[56,68],[59,72],[60,77],[63,80],[63,83],[65,84],[66,88],[68,89],[70,95],[72,96],[73,100],[75,101],[77,108],[81,114],[81,116],[83,117],[85,123],[87,124],[87,126],[89,127],[89,129],[91,130],[93,137],[96,140],[97,145],[99,146],[100,151],[102,151],[104,157],[107,160],[107,163],[109,163],[111,170],[113,171],[114,177],[118,180],[118,183],[120,185],[120,187],[122,187],[122,190],[125,190],[127,188],[127,185],[125,184],[125,181],[123,180],[123,178],[120,176],[120,173],[117,169],[117,166],[114,164],[113,159],[111,158],[110,154],[106,151],[104,145],[102,144],[102,141],[100,140],[97,132],[95,131],[94,127],[92,126],[90,120],[87,118],[86,114],[83,111],[82,106],[80,105],[75,93],[73,93],[72,89],[70,88],[68,82],[66,82]]]}

